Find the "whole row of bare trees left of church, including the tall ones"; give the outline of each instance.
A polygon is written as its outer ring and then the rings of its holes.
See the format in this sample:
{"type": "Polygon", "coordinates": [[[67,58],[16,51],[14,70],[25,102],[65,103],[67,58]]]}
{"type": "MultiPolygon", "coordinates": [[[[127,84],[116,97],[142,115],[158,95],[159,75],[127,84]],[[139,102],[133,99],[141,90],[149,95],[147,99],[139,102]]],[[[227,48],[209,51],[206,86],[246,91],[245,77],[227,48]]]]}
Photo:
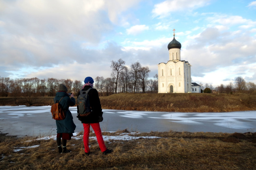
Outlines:
{"type": "MultiPolygon", "coordinates": [[[[111,62],[111,78],[94,78],[94,88],[102,96],[108,96],[114,93],[136,93],[136,92],[158,92],[158,77],[148,80],[148,67],[141,67],[139,62],[131,65],[130,69],[124,66],[125,62],[119,59],[117,62],[111,62]]],[[[0,96],[12,96],[17,98],[24,96],[28,102],[35,96],[55,96],[59,84],[67,86],[69,92],[74,95],[82,88],[81,81],[72,81],[71,79],[10,79],[9,77],[0,77],[0,96]]]]}

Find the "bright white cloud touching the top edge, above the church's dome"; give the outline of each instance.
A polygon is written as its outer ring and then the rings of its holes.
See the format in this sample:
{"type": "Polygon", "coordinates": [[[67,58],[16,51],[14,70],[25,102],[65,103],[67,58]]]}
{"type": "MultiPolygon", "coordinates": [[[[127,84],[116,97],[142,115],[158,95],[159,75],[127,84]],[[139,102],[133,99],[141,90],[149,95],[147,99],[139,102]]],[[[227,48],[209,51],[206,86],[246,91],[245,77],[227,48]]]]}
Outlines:
{"type": "Polygon", "coordinates": [[[194,10],[208,5],[210,0],[166,0],[154,5],[153,17],[167,17],[175,11],[194,10]]]}

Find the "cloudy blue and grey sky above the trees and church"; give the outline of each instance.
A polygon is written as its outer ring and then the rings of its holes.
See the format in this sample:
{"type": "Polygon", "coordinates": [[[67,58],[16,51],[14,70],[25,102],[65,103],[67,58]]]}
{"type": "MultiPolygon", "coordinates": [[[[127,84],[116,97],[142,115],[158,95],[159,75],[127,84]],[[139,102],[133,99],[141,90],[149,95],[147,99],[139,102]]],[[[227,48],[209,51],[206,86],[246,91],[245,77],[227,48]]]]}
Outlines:
{"type": "Polygon", "coordinates": [[[256,83],[253,0],[0,0],[0,77],[111,77],[111,60],[157,74],[175,38],[192,81],[256,83]]]}

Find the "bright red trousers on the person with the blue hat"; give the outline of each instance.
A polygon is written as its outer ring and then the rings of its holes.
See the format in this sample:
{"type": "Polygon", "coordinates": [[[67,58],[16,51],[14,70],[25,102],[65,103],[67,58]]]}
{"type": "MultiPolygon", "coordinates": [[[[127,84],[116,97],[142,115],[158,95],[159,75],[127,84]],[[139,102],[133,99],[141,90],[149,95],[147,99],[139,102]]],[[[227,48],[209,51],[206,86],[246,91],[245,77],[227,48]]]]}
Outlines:
{"type": "Polygon", "coordinates": [[[90,125],[94,130],[94,133],[96,135],[98,144],[100,146],[100,150],[102,152],[106,151],[106,145],[104,143],[101,129],[100,129],[100,123],[82,123],[84,126],[84,145],[85,145],[85,152],[88,153],[90,151],[89,149],[89,134],[90,134],[90,125]]]}

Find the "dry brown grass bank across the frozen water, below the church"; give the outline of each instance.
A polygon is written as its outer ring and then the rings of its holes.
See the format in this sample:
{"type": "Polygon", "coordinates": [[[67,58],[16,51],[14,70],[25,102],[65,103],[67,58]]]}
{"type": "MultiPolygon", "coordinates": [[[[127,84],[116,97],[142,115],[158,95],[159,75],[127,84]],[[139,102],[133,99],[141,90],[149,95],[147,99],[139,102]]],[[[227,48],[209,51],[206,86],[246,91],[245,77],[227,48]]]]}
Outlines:
{"type": "MultiPolygon", "coordinates": [[[[37,97],[32,106],[53,104],[54,97],[37,97]]],[[[113,94],[100,96],[102,108],[167,112],[230,112],[256,110],[256,95],[249,94],[113,94]]],[[[11,97],[0,97],[0,105],[14,106],[11,97]]],[[[17,98],[16,105],[28,105],[17,98]]]]}

